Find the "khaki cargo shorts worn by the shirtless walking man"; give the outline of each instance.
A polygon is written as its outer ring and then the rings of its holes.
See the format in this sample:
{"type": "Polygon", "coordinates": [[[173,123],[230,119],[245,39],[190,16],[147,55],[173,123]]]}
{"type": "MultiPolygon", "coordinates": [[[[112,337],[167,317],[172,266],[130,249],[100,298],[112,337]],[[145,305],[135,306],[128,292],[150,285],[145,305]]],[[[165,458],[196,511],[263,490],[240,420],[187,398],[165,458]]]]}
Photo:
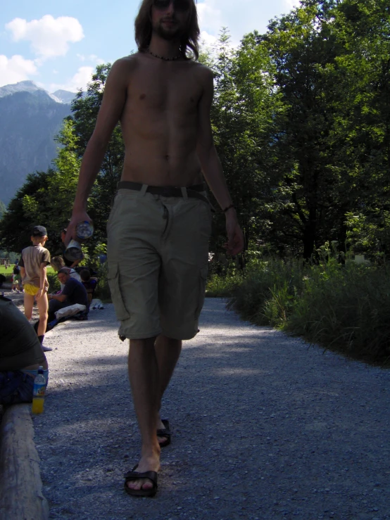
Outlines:
{"type": "Polygon", "coordinates": [[[120,336],[196,335],[211,219],[210,204],[199,198],[118,190],[107,224],[107,256],[120,336]]]}

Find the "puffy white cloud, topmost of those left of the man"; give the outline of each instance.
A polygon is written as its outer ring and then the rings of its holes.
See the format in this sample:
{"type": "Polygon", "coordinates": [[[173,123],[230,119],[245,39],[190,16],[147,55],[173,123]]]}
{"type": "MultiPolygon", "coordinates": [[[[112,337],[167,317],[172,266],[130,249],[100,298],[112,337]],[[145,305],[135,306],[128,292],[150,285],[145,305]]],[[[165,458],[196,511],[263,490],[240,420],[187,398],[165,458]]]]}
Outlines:
{"type": "Polygon", "coordinates": [[[84,38],[79,20],[70,16],[53,18],[44,15],[40,20],[31,22],[14,18],[6,24],[6,29],[11,31],[15,42],[30,42],[32,51],[42,59],[65,56],[70,43],[80,42],[84,38]]]}

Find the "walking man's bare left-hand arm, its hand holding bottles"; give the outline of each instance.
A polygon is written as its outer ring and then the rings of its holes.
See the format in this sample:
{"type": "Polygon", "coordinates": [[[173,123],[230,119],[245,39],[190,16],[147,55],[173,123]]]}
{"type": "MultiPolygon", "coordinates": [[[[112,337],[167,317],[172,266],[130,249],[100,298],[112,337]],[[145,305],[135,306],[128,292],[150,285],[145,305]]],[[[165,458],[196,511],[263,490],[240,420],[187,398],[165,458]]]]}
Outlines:
{"type": "Polygon", "coordinates": [[[87,215],[88,196],[99,173],[108,141],[125,106],[130,66],[129,58],[121,58],[115,61],[108,74],[94,133],[89,139],[82,158],[73,213],[68,224],[65,244],[75,237],[75,226],[78,222],[91,220],[87,215]]]}

